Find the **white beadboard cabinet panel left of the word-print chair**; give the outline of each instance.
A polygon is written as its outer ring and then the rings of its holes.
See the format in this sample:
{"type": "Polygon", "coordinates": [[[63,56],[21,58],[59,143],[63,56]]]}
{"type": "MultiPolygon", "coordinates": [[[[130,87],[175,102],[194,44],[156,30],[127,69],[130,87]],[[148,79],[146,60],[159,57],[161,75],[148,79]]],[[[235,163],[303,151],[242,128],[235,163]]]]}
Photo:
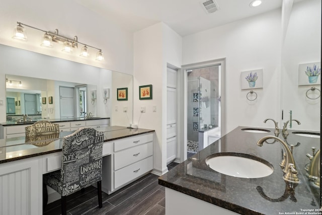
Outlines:
{"type": "Polygon", "coordinates": [[[41,214],[41,178],[37,157],[1,164],[0,214],[41,214]]]}

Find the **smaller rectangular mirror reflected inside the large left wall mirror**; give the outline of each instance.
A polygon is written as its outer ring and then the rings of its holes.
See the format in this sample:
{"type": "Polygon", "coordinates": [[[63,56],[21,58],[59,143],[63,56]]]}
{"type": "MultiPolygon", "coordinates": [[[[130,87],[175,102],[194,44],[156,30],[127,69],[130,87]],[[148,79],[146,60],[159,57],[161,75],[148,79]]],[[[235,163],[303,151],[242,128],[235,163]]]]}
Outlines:
{"type": "Polygon", "coordinates": [[[96,86],[7,75],[7,119],[17,121],[24,114],[30,121],[86,117],[97,112],[88,105],[92,103],[88,89],[96,86]]]}

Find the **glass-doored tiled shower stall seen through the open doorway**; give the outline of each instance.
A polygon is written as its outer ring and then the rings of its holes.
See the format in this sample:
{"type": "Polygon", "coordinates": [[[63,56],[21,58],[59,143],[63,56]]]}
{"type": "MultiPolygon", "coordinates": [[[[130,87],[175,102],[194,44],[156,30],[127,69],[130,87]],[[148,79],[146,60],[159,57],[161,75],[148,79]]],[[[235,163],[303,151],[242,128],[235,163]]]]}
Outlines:
{"type": "MultiPolygon", "coordinates": [[[[187,151],[204,148],[204,134],[219,130],[219,66],[191,69],[187,73],[187,151]]],[[[208,135],[207,135],[208,136],[208,135]]],[[[208,138],[208,137],[207,137],[208,138]]],[[[208,145],[208,139],[206,141],[208,145]]]]}

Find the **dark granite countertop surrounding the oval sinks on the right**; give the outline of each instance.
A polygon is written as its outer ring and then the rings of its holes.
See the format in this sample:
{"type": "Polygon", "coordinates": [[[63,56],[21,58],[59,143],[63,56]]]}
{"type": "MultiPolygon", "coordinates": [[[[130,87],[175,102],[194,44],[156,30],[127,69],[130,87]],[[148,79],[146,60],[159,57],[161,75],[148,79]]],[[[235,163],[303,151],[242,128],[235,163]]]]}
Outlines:
{"type": "MultiPolygon", "coordinates": [[[[273,135],[274,129],[268,133],[251,133],[237,127],[219,140],[201,150],[199,153],[179,164],[168,173],[160,176],[160,185],[199,198],[240,214],[284,214],[281,212],[302,212],[301,209],[320,208],[320,190],[313,186],[305,174],[304,167],[309,163],[305,156],[312,154],[311,147],[320,148],[320,139],[295,135],[286,137],[288,145],[294,145],[293,157],[301,183],[286,183],[279,166],[282,160],[282,145],[268,139],[262,147],[256,145],[264,136],[273,135]],[[237,178],[224,175],[210,169],[205,159],[215,153],[236,152],[254,155],[268,161],[274,171],[262,178],[237,178]],[[294,188],[294,195],[288,188],[294,188]]],[[[279,137],[283,140],[282,133],[279,137]]],[[[318,214],[318,213],[316,213],[318,214]]]]}

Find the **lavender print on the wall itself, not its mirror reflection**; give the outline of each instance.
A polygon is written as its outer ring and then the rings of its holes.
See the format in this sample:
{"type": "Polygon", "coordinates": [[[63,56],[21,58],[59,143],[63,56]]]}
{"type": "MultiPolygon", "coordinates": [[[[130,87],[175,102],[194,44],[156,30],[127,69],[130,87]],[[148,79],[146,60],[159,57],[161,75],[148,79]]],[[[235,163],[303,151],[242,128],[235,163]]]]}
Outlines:
{"type": "Polygon", "coordinates": [[[241,90],[263,88],[263,69],[242,71],[240,73],[241,90]]]}

